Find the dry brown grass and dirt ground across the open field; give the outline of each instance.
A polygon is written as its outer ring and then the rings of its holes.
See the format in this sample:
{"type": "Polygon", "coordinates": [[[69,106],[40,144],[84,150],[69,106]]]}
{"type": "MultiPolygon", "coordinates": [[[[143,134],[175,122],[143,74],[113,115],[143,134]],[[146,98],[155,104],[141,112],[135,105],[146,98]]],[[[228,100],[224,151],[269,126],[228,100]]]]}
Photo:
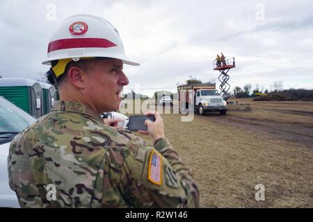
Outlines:
{"type": "Polygon", "coordinates": [[[313,207],[313,102],[239,102],[252,111],[188,122],[162,114],[166,137],[198,182],[201,207],[313,207]],[[265,200],[255,199],[258,184],[265,200]]]}

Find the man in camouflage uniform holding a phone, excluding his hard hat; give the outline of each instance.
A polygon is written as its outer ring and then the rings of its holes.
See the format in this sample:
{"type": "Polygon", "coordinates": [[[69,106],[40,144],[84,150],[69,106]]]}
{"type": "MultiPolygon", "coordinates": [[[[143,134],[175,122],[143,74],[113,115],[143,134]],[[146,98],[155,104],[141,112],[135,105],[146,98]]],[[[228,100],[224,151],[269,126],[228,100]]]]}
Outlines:
{"type": "MultiPolygon", "coordinates": [[[[88,19],[74,19],[92,30],[88,19]]],[[[126,62],[91,56],[51,62],[52,69],[65,64],[61,74],[54,70],[61,100],[10,146],[9,182],[21,207],[199,207],[198,187],[159,114],[146,121],[154,148],[100,117],[118,109],[129,83],[126,62]]]]}

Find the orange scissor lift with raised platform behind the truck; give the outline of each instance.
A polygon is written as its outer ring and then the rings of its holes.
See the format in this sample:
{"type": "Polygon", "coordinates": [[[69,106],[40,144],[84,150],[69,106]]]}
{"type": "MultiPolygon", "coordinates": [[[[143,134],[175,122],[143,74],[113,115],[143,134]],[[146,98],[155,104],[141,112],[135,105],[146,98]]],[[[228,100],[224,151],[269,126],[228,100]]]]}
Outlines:
{"type": "Polygon", "coordinates": [[[236,67],[234,57],[228,58],[227,60],[220,62],[220,64],[218,64],[216,60],[213,61],[214,70],[220,71],[220,76],[218,76],[218,80],[220,80],[219,88],[225,101],[230,98],[230,94],[228,93],[228,90],[230,90],[230,84],[227,83],[230,76],[227,73],[234,67],[236,67]]]}

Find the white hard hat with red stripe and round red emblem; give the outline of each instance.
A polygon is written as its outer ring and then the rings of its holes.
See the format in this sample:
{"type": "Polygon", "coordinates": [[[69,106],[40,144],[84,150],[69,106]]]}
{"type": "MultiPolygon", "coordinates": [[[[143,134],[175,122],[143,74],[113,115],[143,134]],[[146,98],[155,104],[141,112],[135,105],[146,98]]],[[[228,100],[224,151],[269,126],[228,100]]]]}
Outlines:
{"type": "Polygon", "coordinates": [[[106,19],[93,15],[74,15],[65,19],[52,36],[48,58],[42,64],[95,57],[116,58],[128,65],[139,65],[125,56],[118,31],[106,19]]]}

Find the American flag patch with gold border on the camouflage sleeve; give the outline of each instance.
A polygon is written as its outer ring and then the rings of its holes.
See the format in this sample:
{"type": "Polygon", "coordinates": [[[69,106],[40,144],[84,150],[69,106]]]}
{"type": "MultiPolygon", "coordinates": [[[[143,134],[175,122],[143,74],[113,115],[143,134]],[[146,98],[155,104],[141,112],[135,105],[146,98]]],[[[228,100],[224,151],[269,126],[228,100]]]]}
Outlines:
{"type": "Polygon", "coordinates": [[[162,175],[162,156],[155,151],[152,151],[149,161],[148,180],[155,185],[161,185],[162,175]]]}

